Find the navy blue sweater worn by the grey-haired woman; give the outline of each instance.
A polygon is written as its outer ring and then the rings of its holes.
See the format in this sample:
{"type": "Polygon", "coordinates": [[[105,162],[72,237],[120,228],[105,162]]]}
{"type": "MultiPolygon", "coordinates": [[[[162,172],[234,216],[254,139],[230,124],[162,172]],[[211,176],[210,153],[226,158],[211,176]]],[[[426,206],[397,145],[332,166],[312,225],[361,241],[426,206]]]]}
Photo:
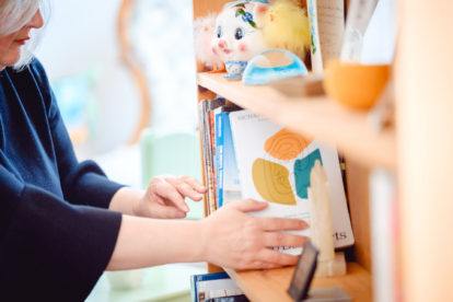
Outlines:
{"type": "Polygon", "coordinates": [[[81,301],[108,264],[120,185],[79,163],[35,59],[0,71],[0,299],[81,301]]]}

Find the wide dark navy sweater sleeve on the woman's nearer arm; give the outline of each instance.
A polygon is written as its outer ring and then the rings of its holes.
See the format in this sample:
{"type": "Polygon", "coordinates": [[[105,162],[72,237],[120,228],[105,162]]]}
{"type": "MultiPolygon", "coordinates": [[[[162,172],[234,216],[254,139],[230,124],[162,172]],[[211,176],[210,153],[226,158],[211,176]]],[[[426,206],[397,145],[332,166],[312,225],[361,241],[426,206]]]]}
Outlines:
{"type": "Polygon", "coordinates": [[[0,288],[7,301],[82,301],[106,268],[121,216],[71,206],[0,166],[0,288]]]}

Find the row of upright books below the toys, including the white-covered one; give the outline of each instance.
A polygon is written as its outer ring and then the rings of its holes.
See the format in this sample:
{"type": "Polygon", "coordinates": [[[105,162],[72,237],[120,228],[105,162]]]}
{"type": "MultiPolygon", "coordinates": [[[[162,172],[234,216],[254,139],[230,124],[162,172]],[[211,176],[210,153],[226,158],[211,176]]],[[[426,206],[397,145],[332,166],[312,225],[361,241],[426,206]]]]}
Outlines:
{"type": "MultiPolygon", "coordinates": [[[[310,174],[318,161],[328,178],[335,247],[353,244],[338,153],[223,98],[199,103],[206,213],[242,198],[269,202],[255,216],[310,224],[310,174]]],[[[301,120],[301,123],[303,123],[301,120]]],[[[310,229],[301,235],[310,236],[310,229]]],[[[286,253],[300,254],[298,248],[286,253]]]]}

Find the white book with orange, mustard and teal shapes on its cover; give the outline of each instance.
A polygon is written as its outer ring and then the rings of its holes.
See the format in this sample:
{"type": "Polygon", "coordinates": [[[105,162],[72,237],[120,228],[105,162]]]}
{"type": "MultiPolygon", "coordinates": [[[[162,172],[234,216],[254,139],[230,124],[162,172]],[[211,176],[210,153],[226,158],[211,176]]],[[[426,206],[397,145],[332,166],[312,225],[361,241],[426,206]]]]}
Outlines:
{"type": "MultiPolygon", "coordinates": [[[[292,133],[249,111],[231,113],[230,123],[242,197],[269,202],[267,209],[254,214],[298,218],[310,224],[310,173],[315,162],[320,161],[328,179],[335,247],[353,244],[339,159],[335,149],[292,133]]],[[[310,229],[298,231],[297,234],[310,236],[310,229]]],[[[300,252],[301,248],[286,251],[290,254],[300,252]]]]}

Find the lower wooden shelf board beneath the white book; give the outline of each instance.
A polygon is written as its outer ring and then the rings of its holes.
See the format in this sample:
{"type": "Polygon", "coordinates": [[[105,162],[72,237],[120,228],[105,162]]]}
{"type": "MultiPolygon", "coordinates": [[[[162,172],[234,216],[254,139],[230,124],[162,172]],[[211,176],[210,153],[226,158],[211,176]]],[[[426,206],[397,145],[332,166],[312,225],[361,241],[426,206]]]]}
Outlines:
{"type": "MultiPolygon", "coordinates": [[[[271,270],[235,271],[225,269],[251,301],[292,301],[287,293],[293,267],[271,270]]],[[[360,265],[348,264],[348,275],[335,278],[315,278],[312,288],[338,287],[352,298],[352,301],[372,301],[371,276],[360,265]]]]}

